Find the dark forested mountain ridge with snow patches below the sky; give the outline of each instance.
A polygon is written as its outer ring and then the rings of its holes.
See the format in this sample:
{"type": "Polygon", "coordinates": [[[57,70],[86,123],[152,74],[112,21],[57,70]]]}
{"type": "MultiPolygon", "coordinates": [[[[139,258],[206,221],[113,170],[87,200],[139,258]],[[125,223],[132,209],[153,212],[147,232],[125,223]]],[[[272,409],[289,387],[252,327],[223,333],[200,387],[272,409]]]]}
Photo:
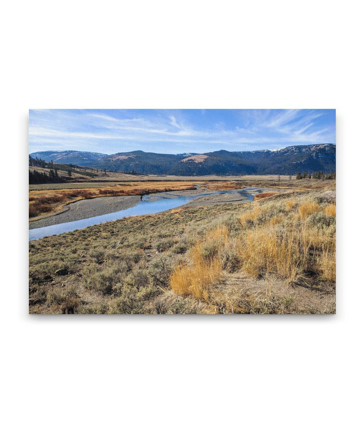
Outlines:
{"type": "Polygon", "coordinates": [[[107,155],[65,150],[34,152],[30,156],[47,162],[146,175],[294,175],[298,171],[336,171],[336,144],[331,143],[236,152],[163,154],[136,150],[107,155]]]}

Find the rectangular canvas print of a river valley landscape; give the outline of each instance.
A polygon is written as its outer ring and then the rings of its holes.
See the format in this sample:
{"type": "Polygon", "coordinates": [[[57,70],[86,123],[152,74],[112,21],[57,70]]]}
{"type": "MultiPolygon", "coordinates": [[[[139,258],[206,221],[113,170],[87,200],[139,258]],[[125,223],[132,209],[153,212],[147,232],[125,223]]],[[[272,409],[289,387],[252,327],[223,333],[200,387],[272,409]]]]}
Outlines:
{"type": "Polygon", "coordinates": [[[29,110],[31,314],[334,314],[335,229],[335,110],[29,110]]]}

